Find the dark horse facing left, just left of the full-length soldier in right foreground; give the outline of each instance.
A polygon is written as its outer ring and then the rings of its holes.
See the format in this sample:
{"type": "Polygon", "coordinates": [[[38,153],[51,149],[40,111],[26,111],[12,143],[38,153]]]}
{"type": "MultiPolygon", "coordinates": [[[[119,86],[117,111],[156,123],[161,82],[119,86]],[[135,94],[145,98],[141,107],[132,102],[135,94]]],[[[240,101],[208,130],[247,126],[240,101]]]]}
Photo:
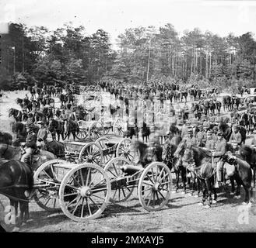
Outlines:
{"type": "Polygon", "coordinates": [[[212,167],[212,155],[201,147],[194,146],[183,140],[174,153],[174,157],[183,157],[183,161],[188,164],[191,160],[195,162],[195,166],[190,166],[190,171],[194,172],[196,177],[202,182],[203,196],[202,204],[205,205],[206,195],[209,195],[209,206],[212,205],[212,191],[214,194],[214,202],[217,200],[216,188],[214,188],[214,168],[212,167]]]}

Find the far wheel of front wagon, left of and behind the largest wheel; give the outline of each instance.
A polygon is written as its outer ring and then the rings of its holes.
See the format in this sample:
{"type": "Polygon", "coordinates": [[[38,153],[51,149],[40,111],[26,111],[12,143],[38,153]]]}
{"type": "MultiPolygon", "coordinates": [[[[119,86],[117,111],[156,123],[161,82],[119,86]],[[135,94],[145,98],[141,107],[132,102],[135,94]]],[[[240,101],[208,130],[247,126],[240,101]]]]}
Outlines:
{"type": "MultiPolygon", "coordinates": [[[[54,164],[65,164],[65,160],[50,160],[41,164],[37,168],[37,171],[33,174],[34,184],[49,184],[49,182],[58,182],[56,174],[54,171],[54,164]]],[[[54,187],[54,184],[49,184],[47,187],[37,188],[34,191],[33,198],[37,205],[44,208],[47,211],[55,211],[59,208],[56,206],[56,201],[58,198],[58,188],[54,187]]]]}

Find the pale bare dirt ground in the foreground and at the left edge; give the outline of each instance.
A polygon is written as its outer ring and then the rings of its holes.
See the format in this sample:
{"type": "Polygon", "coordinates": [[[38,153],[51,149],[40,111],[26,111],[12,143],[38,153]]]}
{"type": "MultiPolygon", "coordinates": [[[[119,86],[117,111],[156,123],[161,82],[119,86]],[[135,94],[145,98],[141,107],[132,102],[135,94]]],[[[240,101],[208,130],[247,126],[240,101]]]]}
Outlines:
{"type": "MultiPolygon", "coordinates": [[[[0,130],[8,131],[10,119],[7,118],[8,108],[15,108],[14,99],[23,98],[25,93],[7,94],[2,98],[0,112],[0,130]]],[[[255,191],[254,191],[255,193],[255,191]]],[[[5,218],[4,209],[9,204],[7,198],[1,196],[0,217],[5,218]]],[[[139,204],[137,191],[127,202],[118,205],[110,204],[100,218],[89,222],[73,222],[61,211],[47,212],[36,202],[30,202],[30,220],[21,226],[19,232],[255,232],[256,204],[251,208],[242,205],[241,198],[234,199],[228,191],[219,189],[218,201],[211,208],[199,205],[202,195],[195,198],[172,193],[170,201],[159,212],[146,212],[139,204]]],[[[255,198],[256,202],[256,198],[255,198]]],[[[1,219],[1,218],[0,218],[1,219]]],[[[12,231],[12,224],[5,226],[12,231]]]]}

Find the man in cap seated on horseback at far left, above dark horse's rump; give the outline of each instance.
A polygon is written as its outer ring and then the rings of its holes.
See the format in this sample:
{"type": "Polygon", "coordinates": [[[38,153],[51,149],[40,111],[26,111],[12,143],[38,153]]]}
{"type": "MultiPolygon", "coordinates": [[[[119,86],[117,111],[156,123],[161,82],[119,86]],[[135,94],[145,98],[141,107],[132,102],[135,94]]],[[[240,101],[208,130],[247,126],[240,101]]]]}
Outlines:
{"type": "Polygon", "coordinates": [[[30,162],[30,157],[32,157],[33,152],[37,149],[37,136],[33,133],[33,123],[26,124],[26,142],[21,145],[24,146],[25,153],[21,157],[20,161],[28,164],[30,162]]]}

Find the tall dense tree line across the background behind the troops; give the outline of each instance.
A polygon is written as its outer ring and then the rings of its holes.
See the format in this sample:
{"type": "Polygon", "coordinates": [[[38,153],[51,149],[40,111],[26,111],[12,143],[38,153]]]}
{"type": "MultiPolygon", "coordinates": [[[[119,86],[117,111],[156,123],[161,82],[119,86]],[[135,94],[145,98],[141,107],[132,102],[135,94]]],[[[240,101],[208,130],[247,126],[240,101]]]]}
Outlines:
{"type": "Polygon", "coordinates": [[[250,32],[221,37],[200,29],[179,35],[173,25],[126,29],[117,50],[103,29],[88,35],[84,26],[66,23],[50,31],[44,26],[11,23],[1,36],[0,85],[18,81],[47,84],[100,80],[201,82],[220,87],[253,86],[256,41],[250,32]]]}

